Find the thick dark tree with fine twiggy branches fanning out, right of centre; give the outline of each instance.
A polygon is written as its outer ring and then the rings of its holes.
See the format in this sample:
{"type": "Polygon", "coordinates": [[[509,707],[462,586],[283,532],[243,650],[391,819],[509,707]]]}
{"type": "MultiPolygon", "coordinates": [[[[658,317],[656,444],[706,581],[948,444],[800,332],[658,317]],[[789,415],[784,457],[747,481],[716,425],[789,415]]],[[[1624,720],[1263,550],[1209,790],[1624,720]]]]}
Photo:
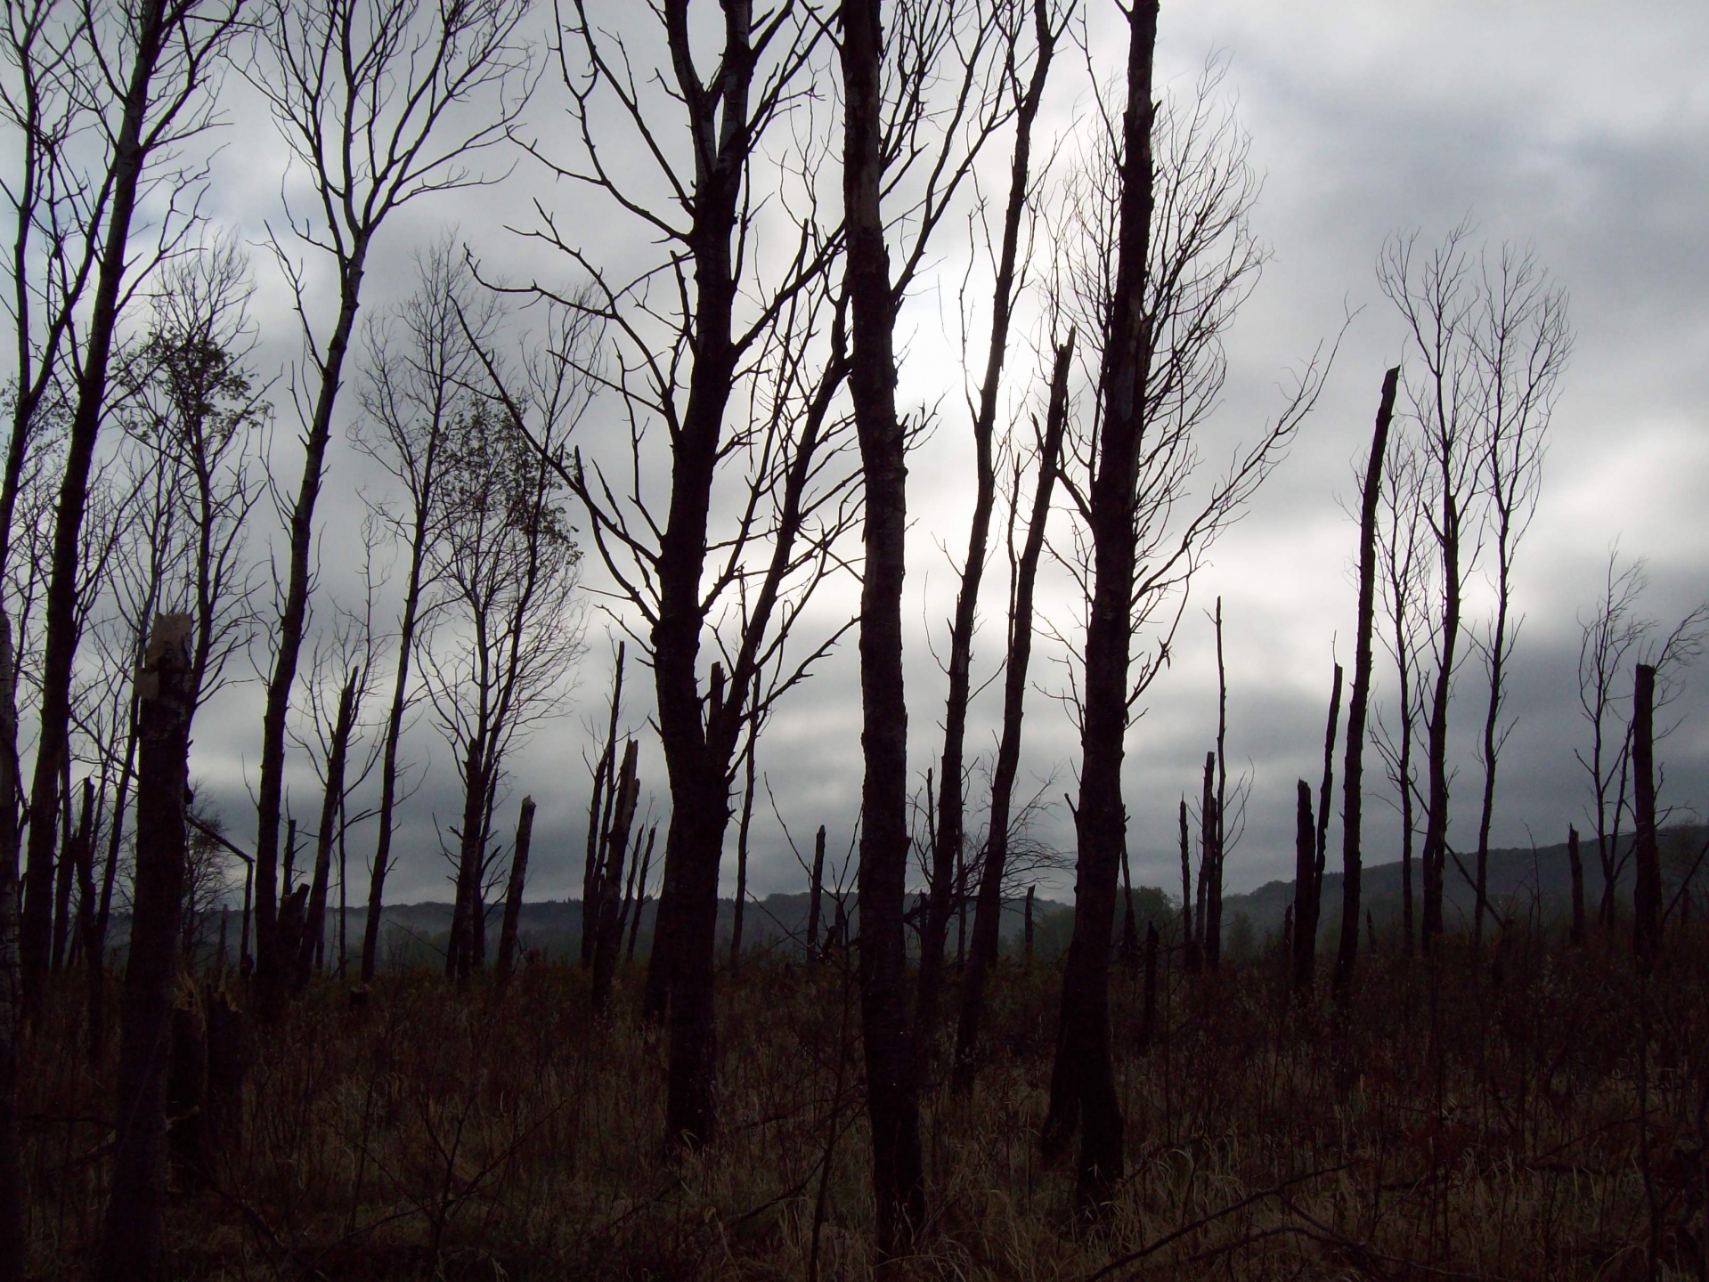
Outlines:
{"type": "Polygon", "coordinates": [[[1107,1002],[1126,730],[1169,653],[1205,547],[1275,465],[1321,385],[1314,361],[1282,415],[1208,491],[1193,492],[1195,429],[1222,385],[1220,335],[1263,255],[1246,221],[1254,183],[1244,135],[1213,104],[1213,80],[1191,103],[1154,109],[1155,21],[1155,3],[1128,14],[1126,109],[1118,121],[1099,99],[1102,130],[1060,219],[1065,304],[1078,332],[1101,342],[1094,427],[1072,436],[1063,468],[1080,540],[1063,559],[1085,593],[1078,879],[1042,1140],[1060,1152],[1078,1128],[1089,1212],[1107,1203],[1125,1164],[1107,1002]],[[1135,663],[1133,639],[1152,627],[1160,636],[1147,638],[1135,663]]]}

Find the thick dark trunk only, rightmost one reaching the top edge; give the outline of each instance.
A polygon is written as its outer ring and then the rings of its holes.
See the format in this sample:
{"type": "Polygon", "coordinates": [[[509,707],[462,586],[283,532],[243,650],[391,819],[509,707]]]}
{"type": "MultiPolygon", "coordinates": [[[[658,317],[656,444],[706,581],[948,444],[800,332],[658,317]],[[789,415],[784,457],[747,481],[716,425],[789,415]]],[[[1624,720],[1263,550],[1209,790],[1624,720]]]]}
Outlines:
{"type": "Polygon", "coordinates": [[[1135,491],[1152,344],[1145,291],[1154,205],[1155,0],[1135,0],[1128,10],[1128,32],[1116,287],[1099,371],[1102,417],[1087,518],[1092,602],[1085,629],[1080,805],[1075,814],[1075,921],[1063,967],[1061,1024],[1044,1125],[1046,1147],[1058,1150],[1078,1125],[1077,1198],[1089,1212],[1107,1205],[1125,1169],[1123,1118],[1109,1055],[1109,937],[1116,863],[1126,829],[1121,759],[1133,643],[1135,491]]]}

